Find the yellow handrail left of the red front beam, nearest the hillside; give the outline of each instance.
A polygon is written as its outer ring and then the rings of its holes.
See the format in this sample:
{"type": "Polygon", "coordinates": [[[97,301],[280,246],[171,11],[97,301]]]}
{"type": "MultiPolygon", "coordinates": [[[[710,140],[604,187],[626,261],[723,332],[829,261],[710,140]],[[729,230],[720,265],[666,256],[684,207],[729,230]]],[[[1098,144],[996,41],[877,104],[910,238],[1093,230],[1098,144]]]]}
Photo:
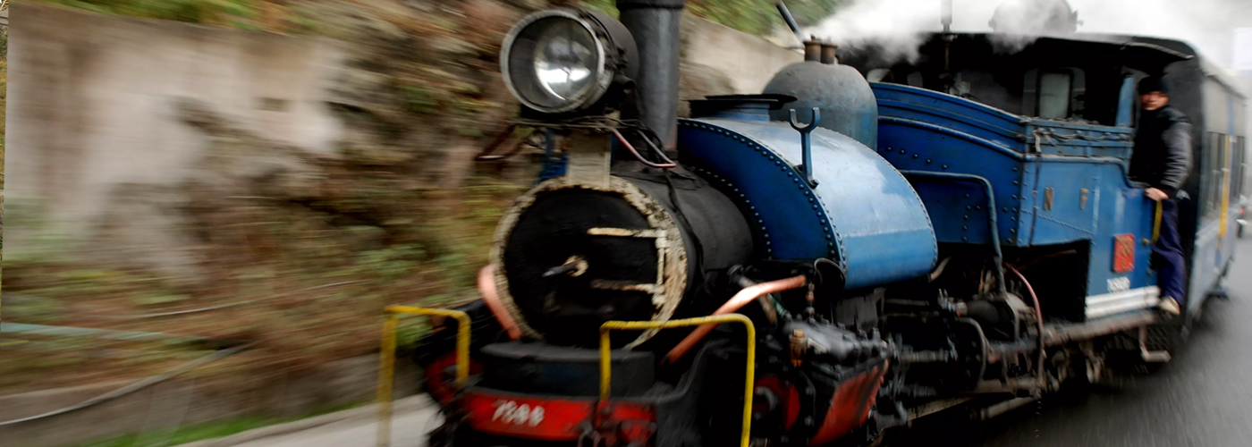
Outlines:
{"type": "Polygon", "coordinates": [[[457,387],[470,377],[470,314],[461,311],[388,306],[383,322],[382,354],[378,361],[378,447],[391,444],[392,383],[396,372],[396,327],[403,314],[443,316],[457,319],[457,387]]]}

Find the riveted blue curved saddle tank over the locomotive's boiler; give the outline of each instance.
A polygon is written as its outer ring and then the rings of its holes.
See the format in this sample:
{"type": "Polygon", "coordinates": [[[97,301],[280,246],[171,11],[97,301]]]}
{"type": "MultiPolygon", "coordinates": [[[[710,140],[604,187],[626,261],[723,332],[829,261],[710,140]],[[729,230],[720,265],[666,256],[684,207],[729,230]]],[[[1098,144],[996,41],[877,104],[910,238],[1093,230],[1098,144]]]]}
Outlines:
{"type": "Polygon", "coordinates": [[[813,133],[810,188],[800,134],[786,123],[680,120],[682,162],[724,182],[752,213],[769,255],[831,258],[846,288],[920,277],[938,245],[925,207],[908,180],[873,150],[841,134],[813,133]]]}

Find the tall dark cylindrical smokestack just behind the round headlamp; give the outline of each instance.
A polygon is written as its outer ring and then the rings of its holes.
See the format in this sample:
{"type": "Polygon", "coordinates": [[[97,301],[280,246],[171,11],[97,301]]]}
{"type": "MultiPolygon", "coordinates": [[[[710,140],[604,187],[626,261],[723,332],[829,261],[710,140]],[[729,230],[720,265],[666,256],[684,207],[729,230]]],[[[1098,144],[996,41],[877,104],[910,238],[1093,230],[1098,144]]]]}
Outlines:
{"type": "Polygon", "coordinates": [[[635,36],[640,119],[674,148],[679,119],[679,40],[686,0],[617,0],[622,25],[635,36]]]}

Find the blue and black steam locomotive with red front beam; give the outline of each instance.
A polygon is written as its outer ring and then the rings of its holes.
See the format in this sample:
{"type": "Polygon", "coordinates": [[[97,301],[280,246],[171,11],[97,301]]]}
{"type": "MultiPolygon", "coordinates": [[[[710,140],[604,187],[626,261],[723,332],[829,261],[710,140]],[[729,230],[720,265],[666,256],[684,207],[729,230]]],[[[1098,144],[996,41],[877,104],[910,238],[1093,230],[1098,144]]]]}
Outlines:
{"type": "Polygon", "coordinates": [[[506,38],[513,124],[552,162],[462,308],[468,382],[454,322],[422,342],[432,444],[861,446],[1166,362],[1229,269],[1244,103],[1182,43],[940,33],[891,61],[806,41],[762,94],[677,119],[684,0],[617,6],[506,38]],[[1157,309],[1154,207],[1127,178],[1158,73],[1201,162],[1182,317],[1157,309]],[[750,324],[692,319],[720,314],[750,324]]]}

